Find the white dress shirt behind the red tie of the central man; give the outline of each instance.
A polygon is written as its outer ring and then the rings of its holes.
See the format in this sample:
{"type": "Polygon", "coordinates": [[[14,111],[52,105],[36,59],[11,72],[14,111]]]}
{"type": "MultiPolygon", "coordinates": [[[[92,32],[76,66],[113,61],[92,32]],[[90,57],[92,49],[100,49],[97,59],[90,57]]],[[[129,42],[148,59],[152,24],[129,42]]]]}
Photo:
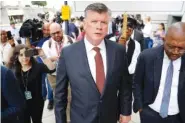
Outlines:
{"type": "MultiPolygon", "coordinates": [[[[92,77],[94,81],[96,82],[96,63],[95,63],[95,55],[96,51],[93,50],[95,46],[93,46],[86,38],[84,38],[86,53],[87,53],[87,59],[89,63],[89,67],[91,70],[92,77]]],[[[103,66],[105,71],[105,77],[107,73],[107,56],[106,56],[106,47],[105,47],[105,41],[103,40],[97,47],[100,48],[100,53],[103,59],[103,66]]]]}

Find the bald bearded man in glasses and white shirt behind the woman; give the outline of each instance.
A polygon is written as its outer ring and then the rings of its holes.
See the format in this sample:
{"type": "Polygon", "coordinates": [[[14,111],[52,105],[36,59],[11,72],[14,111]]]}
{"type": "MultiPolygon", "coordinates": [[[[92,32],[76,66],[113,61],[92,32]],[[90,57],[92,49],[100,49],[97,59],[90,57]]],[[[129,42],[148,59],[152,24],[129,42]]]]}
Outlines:
{"type": "MultiPolygon", "coordinates": [[[[42,49],[47,58],[50,58],[53,63],[57,64],[62,48],[73,43],[74,39],[64,35],[63,30],[58,23],[51,23],[49,30],[51,38],[44,42],[42,49]]],[[[53,73],[51,76],[49,75],[48,79],[52,88],[55,89],[56,73],[53,73]]]]}

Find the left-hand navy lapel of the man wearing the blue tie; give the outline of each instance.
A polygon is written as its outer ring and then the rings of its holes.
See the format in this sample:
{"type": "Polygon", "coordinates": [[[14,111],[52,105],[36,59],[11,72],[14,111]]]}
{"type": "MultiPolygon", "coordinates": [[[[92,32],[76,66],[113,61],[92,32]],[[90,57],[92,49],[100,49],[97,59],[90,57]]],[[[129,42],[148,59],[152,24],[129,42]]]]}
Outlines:
{"type": "Polygon", "coordinates": [[[154,60],[154,93],[155,97],[157,96],[157,92],[159,90],[160,80],[161,80],[161,71],[163,65],[163,57],[164,57],[164,47],[159,47],[160,50],[157,50],[157,57],[154,60]]]}

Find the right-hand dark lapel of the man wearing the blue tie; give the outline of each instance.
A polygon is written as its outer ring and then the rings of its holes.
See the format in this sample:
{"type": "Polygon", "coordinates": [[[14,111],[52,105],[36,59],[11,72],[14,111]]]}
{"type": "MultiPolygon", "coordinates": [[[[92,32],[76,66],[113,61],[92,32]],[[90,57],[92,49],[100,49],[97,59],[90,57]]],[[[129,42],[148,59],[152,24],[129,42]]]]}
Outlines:
{"type": "Polygon", "coordinates": [[[179,74],[179,90],[183,88],[183,85],[185,83],[185,55],[181,57],[181,68],[180,68],[180,74],[179,74]]]}

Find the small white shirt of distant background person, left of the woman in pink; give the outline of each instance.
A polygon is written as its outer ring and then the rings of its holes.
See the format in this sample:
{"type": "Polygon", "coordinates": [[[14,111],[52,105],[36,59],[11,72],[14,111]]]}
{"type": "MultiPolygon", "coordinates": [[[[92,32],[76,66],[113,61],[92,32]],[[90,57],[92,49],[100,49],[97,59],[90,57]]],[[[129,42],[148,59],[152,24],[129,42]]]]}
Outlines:
{"type": "Polygon", "coordinates": [[[142,31],[143,31],[143,34],[144,34],[145,38],[151,37],[151,35],[152,35],[152,24],[150,22],[146,23],[145,26],[144,26],[144,29],[142,31]]]}

